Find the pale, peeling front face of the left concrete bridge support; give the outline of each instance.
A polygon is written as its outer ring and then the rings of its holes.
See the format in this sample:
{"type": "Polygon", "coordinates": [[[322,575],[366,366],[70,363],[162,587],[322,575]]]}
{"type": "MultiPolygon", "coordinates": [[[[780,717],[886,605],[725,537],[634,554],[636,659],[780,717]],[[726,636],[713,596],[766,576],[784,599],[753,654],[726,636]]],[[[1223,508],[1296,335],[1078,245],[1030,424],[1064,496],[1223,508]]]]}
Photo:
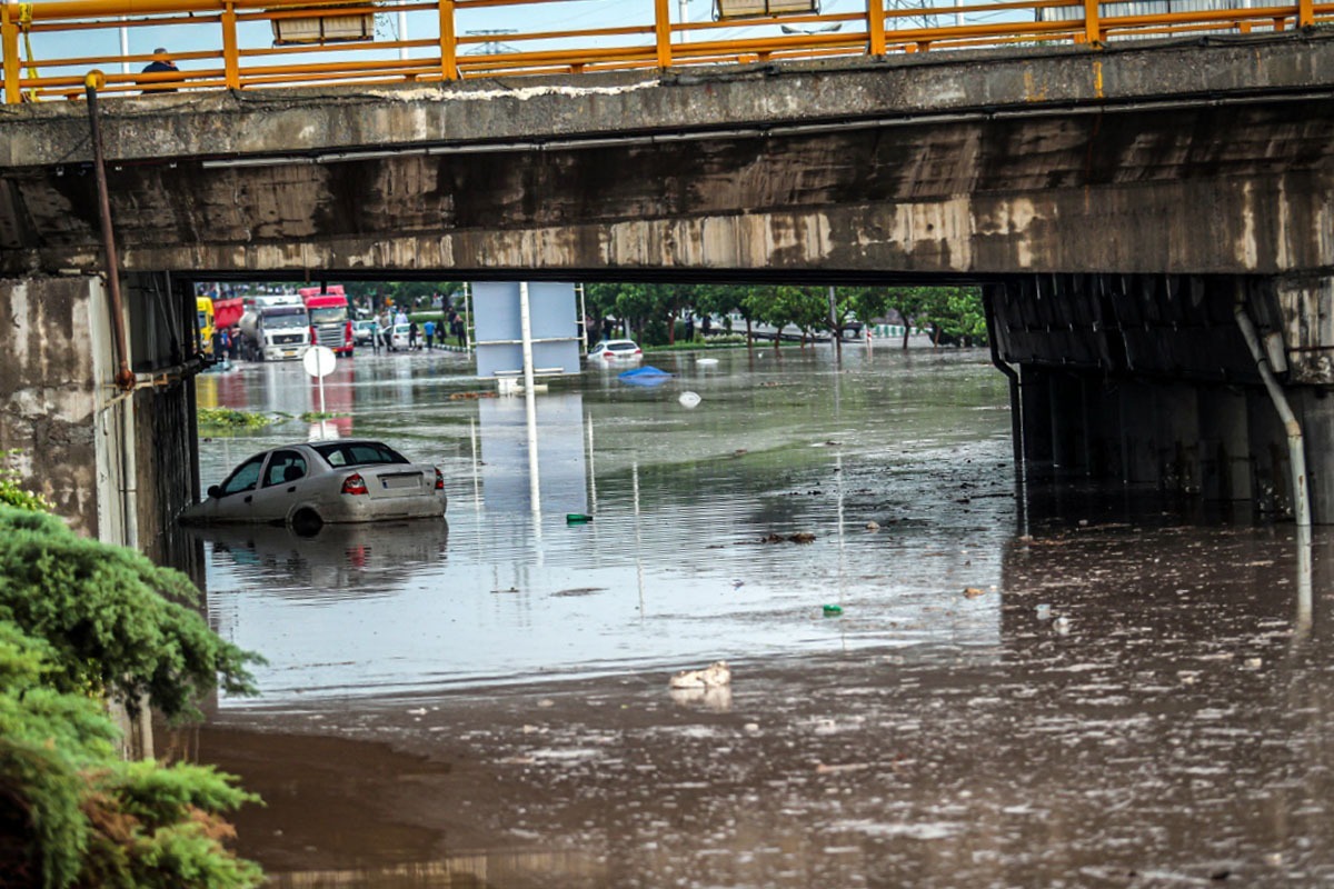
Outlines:
{"type": "Polygon", "coordinates": [[[0,448],[80,533],[99,530],[97,339],[89,277],[0,281],[0,448]]]}

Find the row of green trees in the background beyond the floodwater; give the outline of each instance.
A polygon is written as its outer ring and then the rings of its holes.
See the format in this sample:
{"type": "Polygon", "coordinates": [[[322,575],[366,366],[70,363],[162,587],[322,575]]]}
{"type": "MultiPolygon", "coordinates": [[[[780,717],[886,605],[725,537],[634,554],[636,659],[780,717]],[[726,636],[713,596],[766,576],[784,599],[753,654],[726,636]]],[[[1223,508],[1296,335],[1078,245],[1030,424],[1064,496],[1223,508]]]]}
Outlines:
{"type": "MultiPolygon", "coordinates": [[[[370,308],[392,301],[420,309],[430,308],[436,295],[462,303],[464,285],[460,281],[359,281],[346,287],[354,299],[366,301],[370,308]]],[[[926,332],[935,345],[987,343],[982,292],[975,287],[839,287],[834,289],[832,317],[828,295],[827,287],[787,284],[588,284],[584,288],[590,317],[627,323],[632,336],[644,345],[671,345],[676,341],[678,321],[704,316],[719,319],[724,329],[730,328],[731,317],[742,319],[747,340],[755,324],[791,325],[803,336],[816,336],[844,329],[854,321],[886,320],[903,325],[904,347],[908,328],[926,332]]]]}

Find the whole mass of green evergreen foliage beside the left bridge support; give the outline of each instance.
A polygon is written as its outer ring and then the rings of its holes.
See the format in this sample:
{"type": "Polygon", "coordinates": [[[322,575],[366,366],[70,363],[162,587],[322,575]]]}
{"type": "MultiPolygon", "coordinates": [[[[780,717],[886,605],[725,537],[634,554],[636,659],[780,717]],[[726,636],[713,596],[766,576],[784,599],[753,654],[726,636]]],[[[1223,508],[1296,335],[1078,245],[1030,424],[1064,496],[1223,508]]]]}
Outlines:
{"type": "MultiPolygon", "coordinates": [[[[0,502],[16,489],[0,473],[0,502]]],[[[251,690],[256,658],[181,604],[183,574],[40,509],[0,505],[0,889],[259,886],[223,820],[257,798],[211,766],[119,760],[101,702],[192,714],[217,677],[251,690]]]]}

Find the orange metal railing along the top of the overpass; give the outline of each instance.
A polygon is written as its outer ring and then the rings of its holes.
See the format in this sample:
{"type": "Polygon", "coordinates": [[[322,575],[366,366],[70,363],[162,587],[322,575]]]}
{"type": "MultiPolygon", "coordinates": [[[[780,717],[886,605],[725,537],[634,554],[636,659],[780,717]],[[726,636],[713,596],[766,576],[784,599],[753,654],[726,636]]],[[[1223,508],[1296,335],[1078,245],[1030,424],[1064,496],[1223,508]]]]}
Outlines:
{"type": "MultiPolygon", "coordinates": [[[[923,0],[936,1],[936,0],[923,0]]],[[[950,0],[939,0],[948,3],[950,0]]],[[[582,5],[580,5],[582,4],[582,5]]],[[[571,28],[559,9],[583,0],[52,0],[0,3],[4,101],[81,96],[84,75],[107,76],[104,95],[255,89],[321,84],[386,84],[470,77],[579,73],[608,69],[736,64],[830,56],[882,56],[1014,44],[1082,43],[1183,33],[1251,33],[1334,20],[1334,3],[1207,8],[1169,12],[1166,3],[1027,0],[886,8],[683,23],[670,0],[620,0],[614,21],[571,28]],[[514,13],[503,44],[495,32],[468,32],[468,19],[514,13]],[[556,11],[556,15],[552,12],[556,11]],[[276,44],[277,28],[328,16],[382,24],[414,23],[419,36],[376,35],[350,41],[276,44]],[[277,24],[275,24],[277,23],[277,24]],[[141,73],[152,60],[136,43],[175,47],[179,72],[141,73]],[[480,52],[487,49],[487,52],[480,52]],[[117,72],[119,69],[119,72],[117,72]]],[[[1179,4],[1178,4],[1179,8],[1179,4]]],[[[602,15],[612,15],[606,7],[602,15]]],[[[584,20],[587,15],[574,16],[584,20]]],[[[332,27],[332,25],[331,25],[332,27]]]]}

